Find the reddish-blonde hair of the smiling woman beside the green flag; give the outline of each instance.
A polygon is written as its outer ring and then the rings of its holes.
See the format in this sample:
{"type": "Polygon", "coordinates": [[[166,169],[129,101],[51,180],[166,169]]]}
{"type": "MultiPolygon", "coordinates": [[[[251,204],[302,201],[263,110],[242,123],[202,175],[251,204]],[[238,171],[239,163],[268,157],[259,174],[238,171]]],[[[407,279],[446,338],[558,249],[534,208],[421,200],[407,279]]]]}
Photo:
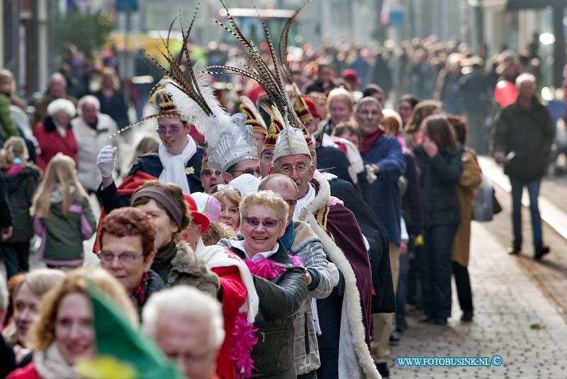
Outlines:
{"type": "Polygon", "coordinates": [[[87,295],[87,283],[94,283],[108,298],[114,300],[133,327],[137,327],[137,313],[123,285],[102,268],[90,268],[89,271],[78,268],[67,273],[42,299],[39,321],[29,334],[35,349],[45,351],[55,341],[55,321],[61,301],[71,293],[87,295]]]}

